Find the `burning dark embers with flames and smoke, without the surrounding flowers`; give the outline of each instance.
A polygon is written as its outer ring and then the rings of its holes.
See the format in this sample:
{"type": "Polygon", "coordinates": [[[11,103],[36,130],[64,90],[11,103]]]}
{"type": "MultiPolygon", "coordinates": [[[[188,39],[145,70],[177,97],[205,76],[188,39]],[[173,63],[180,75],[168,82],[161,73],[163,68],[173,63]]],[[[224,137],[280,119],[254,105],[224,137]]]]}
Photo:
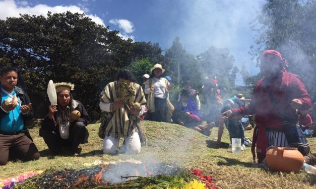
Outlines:
{"type": "Polygon", "coordinates": [[[81,170],[46,171],[34,181],[40,188],[88,188],[128,182],[139,177],[174,175],[178,171],[177,166],[165,163],[119,162],[81,170]]]}

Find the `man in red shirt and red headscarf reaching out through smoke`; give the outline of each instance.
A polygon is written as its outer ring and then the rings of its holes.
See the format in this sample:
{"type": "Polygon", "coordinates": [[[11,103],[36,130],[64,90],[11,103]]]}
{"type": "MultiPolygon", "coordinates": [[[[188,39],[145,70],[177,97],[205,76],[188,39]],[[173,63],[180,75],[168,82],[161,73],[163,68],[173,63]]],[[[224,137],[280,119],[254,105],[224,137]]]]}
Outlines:
{"type": "Polygon", "coordinates": [[[299,76],[286,72],[287,61],[276,50],[266,50],[261,57],[260,79],[252,93],[249,106],[222,114],[223,119],[255,114],[256,129],[251,147],[258,161],[266,157],[269,146],[297,147],[306,156],[309,146],[298,124],[297,110],[307,110],[311,100],[299,76]]]}

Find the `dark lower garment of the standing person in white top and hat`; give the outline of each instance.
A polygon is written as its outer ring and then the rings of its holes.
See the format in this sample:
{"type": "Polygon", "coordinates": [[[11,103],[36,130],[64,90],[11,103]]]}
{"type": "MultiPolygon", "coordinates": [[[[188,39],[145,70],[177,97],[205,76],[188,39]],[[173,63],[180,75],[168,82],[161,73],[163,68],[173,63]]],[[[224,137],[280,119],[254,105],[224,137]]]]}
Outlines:
{"type": "Polygon", "coordinates": [[[155,112],[150,113],[149,120],[156,122],[167,122],[167,99],[155,97],[155,112]]]}

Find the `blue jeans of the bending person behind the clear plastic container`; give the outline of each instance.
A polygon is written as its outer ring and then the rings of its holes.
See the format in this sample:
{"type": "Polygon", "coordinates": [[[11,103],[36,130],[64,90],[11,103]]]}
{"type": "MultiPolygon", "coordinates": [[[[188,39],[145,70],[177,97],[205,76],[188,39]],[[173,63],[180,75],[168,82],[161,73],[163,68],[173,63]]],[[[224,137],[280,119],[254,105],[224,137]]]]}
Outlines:
{"type": "Polygon", "coordinates": [[[226,128],[229,132],[229,138],[231,143],[231,138],[240,138],[241,145],[244,144],[244,130],[241,123],[241,120],[225,120],[224,121],[226,128]]]}

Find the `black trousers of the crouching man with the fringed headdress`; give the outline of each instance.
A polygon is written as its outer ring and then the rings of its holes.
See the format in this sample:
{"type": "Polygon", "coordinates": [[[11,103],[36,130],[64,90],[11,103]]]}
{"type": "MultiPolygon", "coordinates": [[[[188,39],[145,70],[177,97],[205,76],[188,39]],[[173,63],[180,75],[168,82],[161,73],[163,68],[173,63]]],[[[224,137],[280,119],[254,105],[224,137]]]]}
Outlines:
{"type": "Polygon", "coordinates": [[[83,122],[76,122],[70,125],[69,138],[62,139],[59,132],[40,129],[40,136],[43,137],[48,148],[55,154],[60,152],[61,147],[68,147],[73,153],[78,153],[79,144],[88,142],[89,132],[83,122]]]}

